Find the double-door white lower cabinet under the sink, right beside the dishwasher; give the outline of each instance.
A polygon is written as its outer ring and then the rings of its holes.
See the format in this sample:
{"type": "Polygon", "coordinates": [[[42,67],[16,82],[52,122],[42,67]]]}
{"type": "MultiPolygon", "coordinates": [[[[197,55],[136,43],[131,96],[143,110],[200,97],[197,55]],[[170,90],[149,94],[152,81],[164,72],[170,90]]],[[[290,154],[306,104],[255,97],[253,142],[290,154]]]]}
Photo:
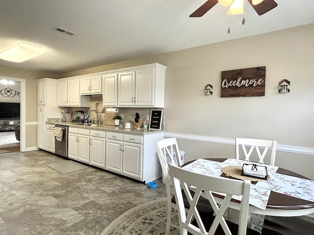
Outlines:
{"type": "Polygon", "coordinates": [[[89,130],[69,127],[68,156],[89,163],[89,130]]]}

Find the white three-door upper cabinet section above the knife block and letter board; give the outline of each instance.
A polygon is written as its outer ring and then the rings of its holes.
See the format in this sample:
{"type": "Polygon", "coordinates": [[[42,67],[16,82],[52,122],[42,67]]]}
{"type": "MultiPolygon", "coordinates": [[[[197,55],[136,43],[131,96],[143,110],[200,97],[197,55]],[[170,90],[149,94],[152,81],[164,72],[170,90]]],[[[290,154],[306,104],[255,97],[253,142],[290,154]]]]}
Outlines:
{"type": "Polygon", "coordinates": [[[104,75],[103,106],[163,108],[166,68],[156,63],[104,75]]]}

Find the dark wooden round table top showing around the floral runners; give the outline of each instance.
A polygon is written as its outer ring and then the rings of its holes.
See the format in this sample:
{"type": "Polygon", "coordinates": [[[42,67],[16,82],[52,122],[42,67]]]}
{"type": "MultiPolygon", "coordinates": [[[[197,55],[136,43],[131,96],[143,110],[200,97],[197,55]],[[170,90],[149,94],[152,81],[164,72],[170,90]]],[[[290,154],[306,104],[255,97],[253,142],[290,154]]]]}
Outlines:
{"type": "MultiPolygon", "coordinates": [[[[223,162],[226,160],[226,158],[206,158],[206,160],[211,160],[215,162],[223,162]]],[[[190,164],[194,161],[195,160],[189,161],[183,164],[183,166],[190,164]]],[[[308,179],[307,177],[303,175],[297,174],[293,171],[286,170],[280,167],[277,169],[276,173],[290,175],[290,176],[303,178],[303,179],[308,179]]],[[[230,176],[225,175],[224,173],[222,173],[221,176],[226,177],[226,178],[232,178],[230,176]]],[[[252,182],[252,184],[256,184],[256,183],[257,182],[252,182]]],[[[306,201],[306,200],[296,198],[296,197],[291,197],[291,196],[274,192],[274,191],[270,192],[269,199],[267,202],[267,207],[266,207],[266,209],[281,209],[281,210],[300,210],[300,209],[310,209],[310,208],[314,208],[314,202],[306,201]]]]}

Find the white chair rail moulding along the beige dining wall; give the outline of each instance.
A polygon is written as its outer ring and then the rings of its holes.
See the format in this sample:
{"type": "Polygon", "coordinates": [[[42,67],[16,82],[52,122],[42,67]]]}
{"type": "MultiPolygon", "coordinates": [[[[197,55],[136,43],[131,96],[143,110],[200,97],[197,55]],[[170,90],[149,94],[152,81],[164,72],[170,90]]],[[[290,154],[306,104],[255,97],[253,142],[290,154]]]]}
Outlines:
{"type": "MultiPolygon", "coordinates": [[[[209,137],[209,136],[187,135],[187,134],[178,134],[178,133],[170,133],[170,132],[164,132],[163,136],[175,137],[178,139],[189,140],[189,141],[203,141],[203,142],[210,142],[210,143],[235,145],[235,140],[209,137]]],[[[305,147],[277,144],[276,151],[314,156],[314,148],[305,148],[305,147]]]]}

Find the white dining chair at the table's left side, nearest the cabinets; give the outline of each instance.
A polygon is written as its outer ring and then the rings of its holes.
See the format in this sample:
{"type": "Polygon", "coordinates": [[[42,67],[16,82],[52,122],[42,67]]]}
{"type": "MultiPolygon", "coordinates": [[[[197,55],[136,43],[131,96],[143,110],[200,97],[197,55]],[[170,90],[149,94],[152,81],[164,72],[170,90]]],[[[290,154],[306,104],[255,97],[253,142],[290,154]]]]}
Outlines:
{"type": "MultiPolygon", "coordinates": [[[[179,227],[175,224],[171,224],[171,213],[172,208],[177,209],[176,207],[176,200],[175,197],[171,197],[171,179],[169,175],[169,167],[168,162],[172,164],[178,163],[178,166],[182,166],[181,156],[180,156],[180,150],[178,147],[178,143],[176,138],[167,138],[160,141],[155,142],[156,150],[158,159],[161,165],[162,174],[164,178],[164,182],[166,185],[166,191],[167,191],[167,225],[166,225],[166,233],[165,235],[169,235],[170,232],[170,226],[179,229],[179,227]],[[168,155],[168,159],[167,159],[168,155]],[[176,159],[176,161],[175,161],[176,159]]],[[[176,164],[177,165],[177,164],[176,164]]],[[[191,192],[193,194],[193,192],[191,192]]],[[[189,202],[184,195],[184,205],[186,208],[189,208],[189,202]]],[[[205,198],[201,198],[200,202],[198,204],[198,208],[200,211],[206,211],[208,213],[213,213],[212,208],[210,207],[209,202],[205,198]]]]}

